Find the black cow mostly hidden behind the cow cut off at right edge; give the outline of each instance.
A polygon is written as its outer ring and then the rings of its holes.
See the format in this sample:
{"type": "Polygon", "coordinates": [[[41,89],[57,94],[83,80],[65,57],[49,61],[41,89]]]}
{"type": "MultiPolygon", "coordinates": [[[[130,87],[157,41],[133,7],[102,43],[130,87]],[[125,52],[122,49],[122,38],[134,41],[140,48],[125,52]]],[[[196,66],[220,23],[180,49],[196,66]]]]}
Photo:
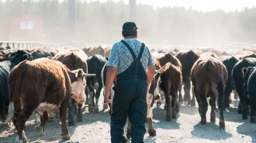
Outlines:
{"type": "Polygon", "coordinates": [[[242,114],[242,119],[248,119],[247,110],[249,110],[249,99],[244,94],[243,68],[256,66],[256,58],[244,58],[236,63],[232,69],[232,80],[235,85],[236,92],[240,99],[238,105],[238,114],[242,114]]]}

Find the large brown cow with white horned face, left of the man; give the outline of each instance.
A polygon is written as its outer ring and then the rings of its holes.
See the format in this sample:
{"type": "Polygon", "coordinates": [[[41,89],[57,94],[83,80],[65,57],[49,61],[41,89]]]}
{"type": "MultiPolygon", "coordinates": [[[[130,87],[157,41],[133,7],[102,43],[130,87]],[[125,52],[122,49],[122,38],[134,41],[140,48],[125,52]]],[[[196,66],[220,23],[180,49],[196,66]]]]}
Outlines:
{"type": "Polygon", "coordinates": [[[60,61],[38,58],[22,61],[9,75],[9,118],[18,132],[15,142],[27,142],[23,130],[29,116],[35,111],[42,116],[37,131],[43,132],[49,120],[48,111],[60,115],[62,139],[70,139],[66,128],[66,110],[70,97],[78,103],[85,101],[86,80],[82,69],[70,71],[60,61]],[[72,83],[72,84],[71,84],[72,83]]]}

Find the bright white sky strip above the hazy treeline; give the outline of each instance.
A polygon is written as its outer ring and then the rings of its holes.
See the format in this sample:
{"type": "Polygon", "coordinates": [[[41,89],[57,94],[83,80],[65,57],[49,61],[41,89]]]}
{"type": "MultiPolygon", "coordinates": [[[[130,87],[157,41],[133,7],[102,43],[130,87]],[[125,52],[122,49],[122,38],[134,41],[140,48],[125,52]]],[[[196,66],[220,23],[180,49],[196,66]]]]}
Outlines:
{"type": "MultiPolygon", "coordinates": [[[[5,1],[5,0],[0,0],[5,1]]],[[[43,1],[43,0],[39,0],[43,1]]],[[[63,0],[59,0],[63,1],[63,0]]],[[[78,0],[78,1],[123,1],[125,4],[129,3],[129,0],[78,0]]],[[[241,11],[244,7],[256,7],[256,0],[137,0],[137,4],[153,5],[155,9],[165,6],[182,6],[186,9],[190,7],[194,10],[201,12],[208,12],[213,10],[224,10],[224,12],[234,12],[235,10],[241,11]]]]}

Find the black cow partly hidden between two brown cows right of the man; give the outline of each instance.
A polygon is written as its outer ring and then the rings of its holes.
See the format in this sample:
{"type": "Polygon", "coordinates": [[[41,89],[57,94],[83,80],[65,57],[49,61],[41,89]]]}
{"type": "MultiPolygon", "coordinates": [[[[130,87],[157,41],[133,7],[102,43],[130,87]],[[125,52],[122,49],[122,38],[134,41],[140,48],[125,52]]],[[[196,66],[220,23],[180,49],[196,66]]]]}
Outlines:
{"type": "MultiPolygon", "coordinates": [[[[191,77],[190,77],[190,71],[192,66],[194,65],[194,63],[196,62],[196,60],[198,60],[198,58],[200,57],[199,52],[194,52],[192,50],[190,51],[180,51],[177,52],[177,54],[175,55],[180,63],[182,64],[182,80],[184,83],[184,100],[188,101],[188,104],[196,106],[195,102],[191,102],[190,100],[190,88],[191,88],[191,77]]],[[[193,97],[194,99],[194,97],[193,97]]],[[[182,97],[179,97],[179,103],[182,103],[182,97]]]]}

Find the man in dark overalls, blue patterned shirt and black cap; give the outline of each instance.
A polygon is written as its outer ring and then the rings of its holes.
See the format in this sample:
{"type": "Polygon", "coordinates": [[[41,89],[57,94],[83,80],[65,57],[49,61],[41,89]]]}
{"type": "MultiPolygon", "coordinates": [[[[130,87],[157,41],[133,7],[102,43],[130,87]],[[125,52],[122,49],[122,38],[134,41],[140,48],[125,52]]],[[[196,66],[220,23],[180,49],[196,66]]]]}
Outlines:
{"type": "Polygon", "coordinates": [[[112,103],[110,89],[116,76],[110,123],[112,143],[127,142],[123,136],[127,115],[132,125],[132,143],[144,142],[146,133],[146,94],[154,78],[155,61],[148,47],[137,40],[137,29],[132,21],[123,24],[124,39],[113,45],[107,63],[107,103],[112,103]]]}

